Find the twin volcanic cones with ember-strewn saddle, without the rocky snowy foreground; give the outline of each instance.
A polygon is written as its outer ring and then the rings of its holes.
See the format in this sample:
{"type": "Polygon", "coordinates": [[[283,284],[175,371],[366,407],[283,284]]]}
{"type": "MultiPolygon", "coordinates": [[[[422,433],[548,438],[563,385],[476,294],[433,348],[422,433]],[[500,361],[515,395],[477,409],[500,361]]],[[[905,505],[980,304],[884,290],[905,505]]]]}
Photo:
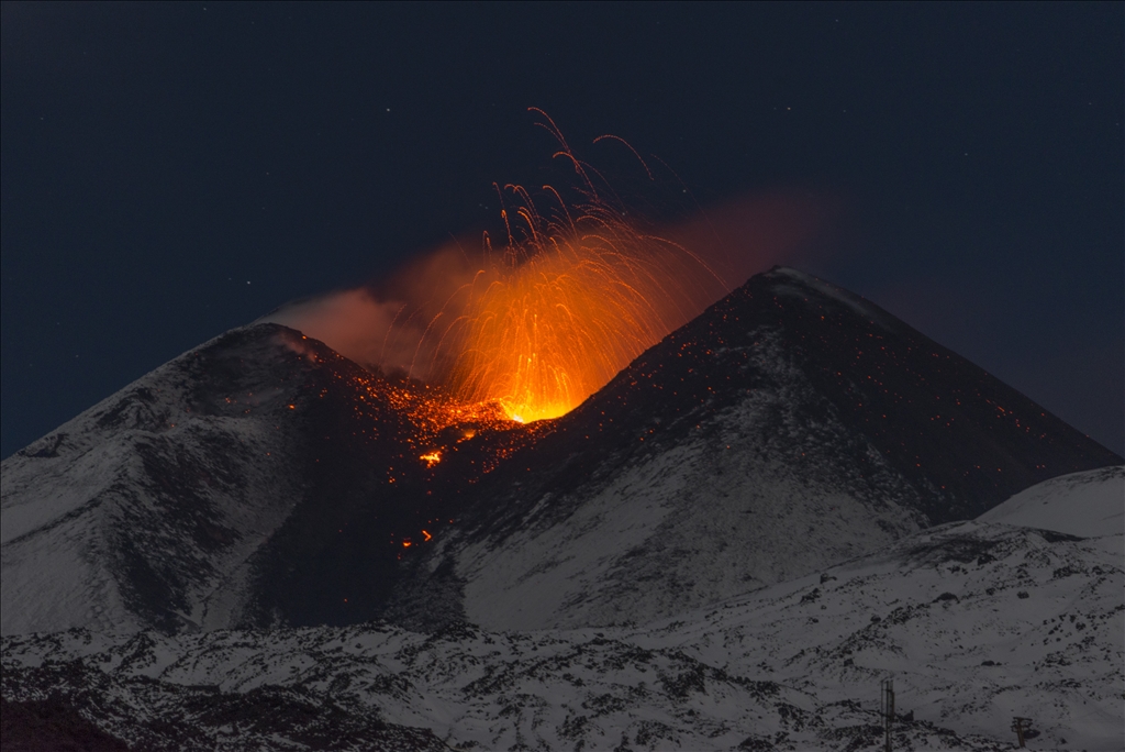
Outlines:
{"type": "Polygon", "coordinates": [[[647,623],[1120,463],[785,268],[526,426],[253,325],[4,460],[2,632],[647,623]]]}

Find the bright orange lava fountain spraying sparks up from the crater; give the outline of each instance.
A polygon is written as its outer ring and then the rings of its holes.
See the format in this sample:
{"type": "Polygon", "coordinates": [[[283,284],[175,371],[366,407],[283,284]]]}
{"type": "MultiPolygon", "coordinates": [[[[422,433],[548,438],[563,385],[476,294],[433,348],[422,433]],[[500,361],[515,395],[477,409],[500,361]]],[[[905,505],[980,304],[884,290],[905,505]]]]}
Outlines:
{"type": "Polygon", "coordinates": [[[506,186],[518,204],[502,209],[507,244],[496,252],[485,236],[483,268],[418,348],[458,399],[498,404],[518,422],[569,412],[724,289],[696,256],[641,233],[605,200],[539,114],[560,144],[555,156],[574,165],[579,200],[568,207],[544,186],[543,215],[524,188],[506,186]]]}

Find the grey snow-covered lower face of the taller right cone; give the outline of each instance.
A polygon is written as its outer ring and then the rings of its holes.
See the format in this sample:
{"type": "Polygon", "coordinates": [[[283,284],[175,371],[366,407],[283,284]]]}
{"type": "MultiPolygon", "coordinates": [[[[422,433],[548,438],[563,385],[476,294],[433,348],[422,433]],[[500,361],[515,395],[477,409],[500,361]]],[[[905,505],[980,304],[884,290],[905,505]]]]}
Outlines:
{"type": "Polygon", "coordinates": [[[468,618],[494,629],[644,624],[926,525],[917,491],[874,447],[830,411],[809,414],[816,392],[785,353],[764,341],[757,355],[768,387],[624,463],[580,500],[542,489],[503,543],[479,537],[460,549],[468,618]]]}

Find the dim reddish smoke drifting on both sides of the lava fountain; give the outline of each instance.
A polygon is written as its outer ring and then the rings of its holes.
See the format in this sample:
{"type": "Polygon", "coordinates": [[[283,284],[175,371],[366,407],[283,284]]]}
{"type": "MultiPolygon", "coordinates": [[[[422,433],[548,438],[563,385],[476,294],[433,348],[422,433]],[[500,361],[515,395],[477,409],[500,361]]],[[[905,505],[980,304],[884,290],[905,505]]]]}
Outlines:
{"type": "MultiPolygon", "coordinates": [[[[665,317],[666,326],[670,330],[699,315],[773,265],[813,260],[830,208],[821,197],[775,193],[728,202],[655,230],[669,241],[667,247],[696,258],[706,270],[699,278],[709,280],[702,294],[675,301],[677,310],[665,317]]],[[[475,280],[480,286],[485,256],[479,248],[472,252],[454,244],[442,247],[415,257],[386,279],[298,301],[261,321],[297,329],[364,367],[441,383],[450,373],[449,352],[443,350],[449,344],[447,332],[453,331],[467,290],[475,280]]],[[[647,332],[652,341],[645,347],[667,333],[647,332]]]]}

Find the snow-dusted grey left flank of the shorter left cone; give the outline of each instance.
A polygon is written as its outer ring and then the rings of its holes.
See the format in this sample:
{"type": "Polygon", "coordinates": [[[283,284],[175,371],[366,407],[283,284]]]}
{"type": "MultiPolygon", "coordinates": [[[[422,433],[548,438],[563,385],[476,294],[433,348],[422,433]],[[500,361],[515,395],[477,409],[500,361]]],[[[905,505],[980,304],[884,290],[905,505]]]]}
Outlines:
{"type": "Polygon", "coordinates": [[[278,429],[292,390],[277,383],[286,374],[262,378],[280,352],[299,360],[280,342],[224,335],[4,460],[3,634],[200,627],[209,606],[230,608],[241,565],[300,484],[278,429]],[[228,409],[208,409],[198,397],[232,340],[242,383],[223,391],[228,409]]]}

